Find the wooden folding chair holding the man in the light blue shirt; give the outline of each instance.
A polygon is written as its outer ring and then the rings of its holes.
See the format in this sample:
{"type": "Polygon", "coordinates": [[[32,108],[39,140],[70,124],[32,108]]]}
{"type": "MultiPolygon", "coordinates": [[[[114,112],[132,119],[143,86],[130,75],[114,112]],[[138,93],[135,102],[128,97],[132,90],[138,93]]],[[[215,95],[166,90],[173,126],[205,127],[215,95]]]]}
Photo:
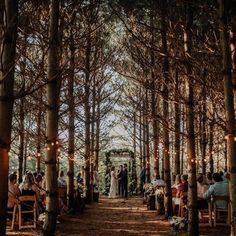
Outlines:
{"type": "Polygon", "coordinates": [[[213,197],[213,204],[212,204],[212,218],[213,218],[213,226],[216,227],[217,224],[221,225],[230,225],[231,223],[231,204],[229,196],[214,196],[213,197]],[[226,202],[226,208],[218,208],[216,202],[217,201],[225,201],[226,202]],[[221,215],[223,214],[223,218],[221,215]],[[217,223],[219,220],[225,220],[225,222],[217,223]]]}

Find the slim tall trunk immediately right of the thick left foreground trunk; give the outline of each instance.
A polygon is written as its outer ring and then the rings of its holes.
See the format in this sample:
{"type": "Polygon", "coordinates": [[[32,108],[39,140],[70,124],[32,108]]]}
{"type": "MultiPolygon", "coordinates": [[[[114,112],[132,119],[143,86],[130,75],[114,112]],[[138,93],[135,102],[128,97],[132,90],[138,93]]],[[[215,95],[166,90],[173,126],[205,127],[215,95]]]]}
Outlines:
{"type": "MultiPolygon", "coordinates": [[[[74,19],[75,12],[72,18],[74,19]]],[[[74,25],[72,24],[71,27],[74,25]]],[[[69,209],[73,208],[74,202],[74,162],[75,162],[75,99],[74,99],[74,73],[75,73],[75,46],[73,30],[70,33],[70,75],[68,78],[69,95],[69,142],[68,142],[68,187],[67,187],[67,205],[69,209]]]]}

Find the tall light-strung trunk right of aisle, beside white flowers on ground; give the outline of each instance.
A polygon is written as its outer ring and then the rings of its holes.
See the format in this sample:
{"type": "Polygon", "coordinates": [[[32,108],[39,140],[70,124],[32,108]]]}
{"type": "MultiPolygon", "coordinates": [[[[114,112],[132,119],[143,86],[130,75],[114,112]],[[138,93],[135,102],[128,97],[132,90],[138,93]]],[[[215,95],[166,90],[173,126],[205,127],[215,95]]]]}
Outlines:
{"type": "Polygon", "coordinates": [[[193,72],[191,64],[192,51],[192,26],[193,26],[193,1],[186,2],[186,29],[184,35],[184,48],[186,58],[186,72],[188,76],[187,86],[187,152],[188,152],[188,234],[199,235],[198,209],[197,209],[197,180],[196,180],[196,155],[195,155],[195,133],[194,133],[194,97],[193,97],[193,72]]]}

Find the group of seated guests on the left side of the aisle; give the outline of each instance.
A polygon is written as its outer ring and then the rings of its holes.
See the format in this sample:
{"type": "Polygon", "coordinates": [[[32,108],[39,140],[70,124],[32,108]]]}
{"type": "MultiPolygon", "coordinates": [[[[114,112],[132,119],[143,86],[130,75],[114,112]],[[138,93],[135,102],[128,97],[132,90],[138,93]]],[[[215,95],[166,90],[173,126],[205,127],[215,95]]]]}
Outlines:
{"type": "MultiPolygon", "coordinates": [[[[93,184],[98,185],[98,174],[96,169],[94,168],[93,171],[93,184]]],[[[27,171],[23,178],[22,182],[18,183],[17,173],[13,172],[9,175],[9,184],[8,184],[8,202],[7,202],[7,208],[8,211],[13,211],[13,208],[15,204],[19,203],[19,197],[20,196],[35,196],[36,199],[36,206],[37,206],[37,212],[43,213],[46,208],[46,181],[44,172],[40,173],[32,173],[30,171],[27,171]]],[[[82,167],[81,171],[75,176],[75,189],[78,188],[78,186],[85,187],[85,170],[82,167]]],[[[67,192],[67,178],[64,174],[64,171],[61,170],[58,174],[58,188],[65,190],[65,196],[67,192]]],[[[69,211],[67,205],[66,205],[66,199],[62,199],[59,196],[59,214],[66,213],[69,211]]],[[[21,206],[22,210],[30,210],[30,208],[33,208],[33,203],[27,203],[23,204],[21,206]]],[[[11,218],[11,214],[8,216],[11,218]]],[[[33,216],[31,216],[33,217],[33,216]]],[[[27,220],[27,219],[25,219],[27,220]]]]}

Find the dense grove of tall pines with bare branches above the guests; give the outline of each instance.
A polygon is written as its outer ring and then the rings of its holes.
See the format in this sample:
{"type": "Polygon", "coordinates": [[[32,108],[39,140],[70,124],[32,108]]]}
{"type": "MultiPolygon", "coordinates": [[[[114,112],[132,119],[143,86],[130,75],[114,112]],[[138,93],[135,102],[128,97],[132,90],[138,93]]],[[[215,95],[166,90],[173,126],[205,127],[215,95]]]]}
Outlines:
{"type": "Polygon", "coordinates": [[[59,169],[72,207],[84,166],[91,202],[117,124],[146,181],[164,178],[166,216],[171,180],[188,174],[189,235],[197,173],[227,170],[236,235],[235,26],[235,0],[0,0],[0,235],[10,171],[19,183],[46,171],[42,232],[54,235],[59,169]]]}

